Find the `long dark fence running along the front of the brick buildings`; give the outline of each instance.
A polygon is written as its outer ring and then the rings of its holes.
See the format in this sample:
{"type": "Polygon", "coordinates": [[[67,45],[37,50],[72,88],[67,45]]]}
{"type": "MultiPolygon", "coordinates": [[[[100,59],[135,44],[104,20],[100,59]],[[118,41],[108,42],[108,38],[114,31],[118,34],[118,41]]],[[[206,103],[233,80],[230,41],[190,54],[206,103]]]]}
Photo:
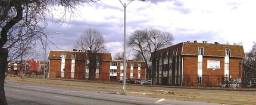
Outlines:
{"type": "MultiPolygon", "coordinates": [[[[23,72],[8,72],[10,75],[19,75],[22,74],[23,72]]],[[[118,74],[117,74],[118,75],[118,74]]],[[[129,75],[129,74],[127,74],[129,75]]],[[[26,72],[23,74],[23,76],[28,76],[28,77],[38,77],[42,78],[43,77],[43,72],[40,71],[30,71],[26,72]]],[[[48,73],[45,73],[45,77],[48,78],[48,73]]],[[[129,78],[130,76],[127,76],[129,78]]],[[[49,78],[65,78],[65,79],[74,79],[74,80],[88,80],[89,75],[83,72],[66,72],[64,73],[64,76],[61,77],[61,72],[60,71],[55,71],[51,72],[49,78]]],[[[111,76],[110,73],[101,73],[95,78],[91,78],[90,80],[94,81],[113,81],[117,82],[120,79],[120,74],[119,76],[111,76]]],[[[151,79],[151,78],[149,78],[151,79]]],[[[237,81],[239,84],[243,83],[242,76],[225,76],[225,75],[180,75],[180,76],[175,76],[175,75],[170,75],[169,77],[159,77],[156,78],[156,84],[160,85],[166,85],[166,86],[205,86],[205,87],[213,87],[216,86],[218,83],[224,83],[224,81],[237,81]]],[[[244,86],[241,84],[241,86],[244,86]]]]}

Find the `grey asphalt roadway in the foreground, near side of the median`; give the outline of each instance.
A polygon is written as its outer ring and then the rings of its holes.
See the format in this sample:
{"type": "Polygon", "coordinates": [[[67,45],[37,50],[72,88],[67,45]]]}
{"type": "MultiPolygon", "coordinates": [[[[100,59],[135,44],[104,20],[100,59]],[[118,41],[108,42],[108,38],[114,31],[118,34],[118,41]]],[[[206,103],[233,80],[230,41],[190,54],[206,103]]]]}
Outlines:
{"type": "MultiPolygon", "coordinates": [[[[214,104],[163,98],[136,97],[116,94],[117,90],[98,90],[40,83],[5,81],[8,104],[214,104]]],[[[73,81],[60,81],[73,84],[73,81]]],[[[90,83],[88,83],[90,84],[90,83]]],[[[97,84],[101,86],[102,84],[97,84]]],[[[105,84],[113,85],[114,84],[105,84]]],[[[120,87],[120,85],[119,85],[120,87]]]]}

